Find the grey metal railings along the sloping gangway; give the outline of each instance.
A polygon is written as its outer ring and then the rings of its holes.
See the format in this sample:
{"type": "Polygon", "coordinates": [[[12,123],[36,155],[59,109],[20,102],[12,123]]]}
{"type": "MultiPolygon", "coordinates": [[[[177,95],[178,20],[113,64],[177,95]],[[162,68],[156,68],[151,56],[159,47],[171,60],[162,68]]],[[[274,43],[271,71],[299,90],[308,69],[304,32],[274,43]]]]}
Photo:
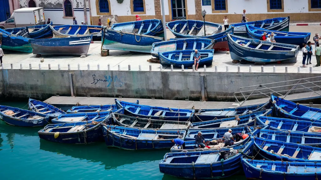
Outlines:
{"type": "Polygon", "coordinates": [[[251,99],[258,99],[254,96],[259,96],[259,98],[266,96],[270,98],[271,93],[285,98],[289,94],[300,93],[304,96],[304,93],[313,92],[321,97],[321,76],[245,86],[240,87],[239,90],[239,92],[233,94],[239,106],[242,106],[250,97],[251,99]]]}

